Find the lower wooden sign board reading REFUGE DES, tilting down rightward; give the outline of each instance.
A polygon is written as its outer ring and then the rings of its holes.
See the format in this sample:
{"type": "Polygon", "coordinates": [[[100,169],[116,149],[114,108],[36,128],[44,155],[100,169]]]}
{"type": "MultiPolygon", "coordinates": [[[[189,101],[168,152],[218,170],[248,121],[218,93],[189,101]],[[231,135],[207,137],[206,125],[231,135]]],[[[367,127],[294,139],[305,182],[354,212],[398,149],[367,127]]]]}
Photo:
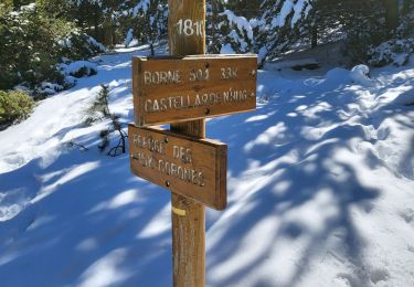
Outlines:
{"type": "Polygon", "coordinates": [[[128,137],[134,174],[212,209],[225,209],[227,145],[134,125],[128,137]]]}

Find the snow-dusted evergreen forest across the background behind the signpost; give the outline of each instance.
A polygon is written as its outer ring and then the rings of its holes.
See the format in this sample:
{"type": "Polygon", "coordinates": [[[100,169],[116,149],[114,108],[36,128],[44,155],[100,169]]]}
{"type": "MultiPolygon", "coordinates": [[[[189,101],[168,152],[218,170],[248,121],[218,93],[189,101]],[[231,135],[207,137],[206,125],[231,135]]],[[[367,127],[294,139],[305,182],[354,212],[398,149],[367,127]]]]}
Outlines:
{"type": "MultiPolygon", "coordinates": [[[[259,66],[340,43],[349,65],[403,65],[414,52],[412,0],[208,0],[208,53],[257,53],[259,66]]],[[[167,0],[2,0],[0,127],[33,99],[96,73],[87,60],[116,46],[166,45],[167,0]]]]}

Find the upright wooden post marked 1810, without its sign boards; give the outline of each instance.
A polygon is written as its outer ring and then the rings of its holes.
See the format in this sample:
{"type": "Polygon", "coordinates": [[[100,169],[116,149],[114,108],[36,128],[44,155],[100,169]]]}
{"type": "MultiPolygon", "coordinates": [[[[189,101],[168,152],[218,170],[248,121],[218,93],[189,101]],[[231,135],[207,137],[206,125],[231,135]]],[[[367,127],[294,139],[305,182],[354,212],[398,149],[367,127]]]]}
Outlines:
{"type": "MultiPolygon", "coordinates": [[[[171,55],[205,54],[205,0],[169,0],[171,55]]],[[[205,120],[171,125],[176,134],[205,137],[205,120]]],[[[205,285],[205,211],[194,200],[171,193],[173,286],[205,285]]]]}

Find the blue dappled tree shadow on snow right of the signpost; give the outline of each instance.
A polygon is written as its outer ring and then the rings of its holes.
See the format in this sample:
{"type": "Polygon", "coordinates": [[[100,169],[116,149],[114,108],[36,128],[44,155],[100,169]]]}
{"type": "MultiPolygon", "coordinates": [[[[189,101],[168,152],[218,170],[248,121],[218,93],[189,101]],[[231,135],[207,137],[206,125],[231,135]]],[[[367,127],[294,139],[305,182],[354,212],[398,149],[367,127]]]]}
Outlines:
{"type": "MultiPolygon", "coordinates": [[[[259,83],[277,78],[267,73],[259,83]]],[[[353,215],[369,213],[380,190],[359,168],[367,159],[358,148],[372,139],[352,120],[364,113],[353,105],[358,93],[339,82],[279,78],[259,96],[257,111],[208,126],[209,137],[229,144],[230,194],[229,209],[208,224],[209,285],[296,286],[332,246],[331,256],[362,266],[353,215]]]]}

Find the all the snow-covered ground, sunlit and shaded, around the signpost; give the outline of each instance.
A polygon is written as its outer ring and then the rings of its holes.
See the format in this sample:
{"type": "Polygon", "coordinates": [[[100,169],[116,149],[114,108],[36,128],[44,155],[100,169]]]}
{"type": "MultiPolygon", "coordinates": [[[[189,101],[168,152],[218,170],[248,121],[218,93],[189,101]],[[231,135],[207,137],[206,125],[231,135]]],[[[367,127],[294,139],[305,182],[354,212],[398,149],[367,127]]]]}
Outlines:
{"type": "MultiPolygon", "coordinates": [[[[82,124],[100,84],[131,121],[148,53],[96,59],[0,132],[1,286],[171,286],[170,194],[82,124]]],[[[208,286],[414,286],[414,63],[364,72],[261,71],[256,111],[209,120],[229,206],[208,211],[208,286]]]]}

